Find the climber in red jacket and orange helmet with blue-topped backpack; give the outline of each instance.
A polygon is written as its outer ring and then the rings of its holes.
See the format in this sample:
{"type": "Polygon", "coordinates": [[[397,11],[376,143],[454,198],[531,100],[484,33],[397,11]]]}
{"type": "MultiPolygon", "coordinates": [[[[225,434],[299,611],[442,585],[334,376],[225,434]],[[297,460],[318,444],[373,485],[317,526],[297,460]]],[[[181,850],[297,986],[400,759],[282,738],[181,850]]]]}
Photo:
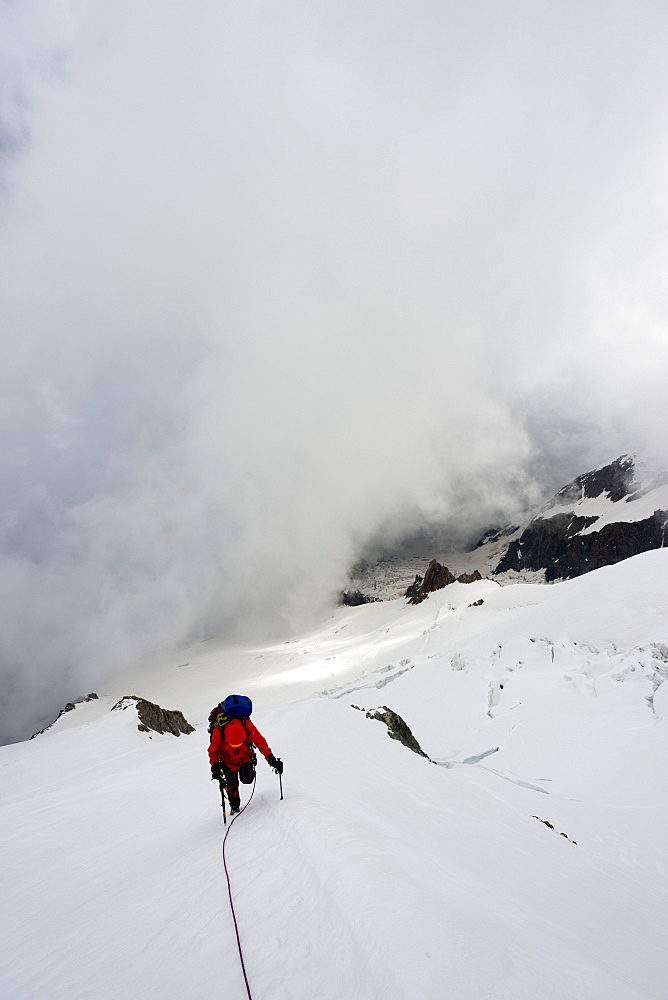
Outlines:
{"type": "MultiPolygon", "coordinates": [[[[230,812],[237,813],[240,802],[239,779],[244,785],[252,784],[255,779],[254,747],[258,748],[277,774],[283,773],[283,762],[274,757],[264,736],[247,716],[228,714],[232,699],[250,705],[250,699],[241,695],[230,695],[212,711],[210,719],[213,722],[213,729],[209,744],[209,763],[211,777],[219,781],[222,787],[227,788],[230,812]]],[[[232,708],[234,709],[234,706],[232,708]]]]}

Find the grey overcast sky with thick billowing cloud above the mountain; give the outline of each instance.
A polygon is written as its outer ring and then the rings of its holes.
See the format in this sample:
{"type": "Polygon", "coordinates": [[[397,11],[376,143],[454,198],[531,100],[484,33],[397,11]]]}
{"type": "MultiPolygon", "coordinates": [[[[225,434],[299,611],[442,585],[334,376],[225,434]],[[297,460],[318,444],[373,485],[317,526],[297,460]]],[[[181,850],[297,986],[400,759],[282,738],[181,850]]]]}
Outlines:
{"type": "Polygon", "coordinates": [[[665,0],[0,18],[4,739],[665,457],[665,0]]]}

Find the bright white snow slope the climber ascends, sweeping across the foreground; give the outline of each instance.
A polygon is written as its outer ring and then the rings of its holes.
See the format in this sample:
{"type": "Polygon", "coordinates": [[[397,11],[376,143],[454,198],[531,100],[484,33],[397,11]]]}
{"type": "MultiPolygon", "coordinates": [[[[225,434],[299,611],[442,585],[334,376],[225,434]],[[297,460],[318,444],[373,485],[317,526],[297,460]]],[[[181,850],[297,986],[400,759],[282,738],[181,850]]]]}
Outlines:
{"type": "Polygon", "coordinates": [[[255,1000],[666,1000],[667,677],[663,549],[121,677],[0,748],[0,995],[244,1000],[205,725],[237,692],[285,762],[228,838],[255,1000]]]}

